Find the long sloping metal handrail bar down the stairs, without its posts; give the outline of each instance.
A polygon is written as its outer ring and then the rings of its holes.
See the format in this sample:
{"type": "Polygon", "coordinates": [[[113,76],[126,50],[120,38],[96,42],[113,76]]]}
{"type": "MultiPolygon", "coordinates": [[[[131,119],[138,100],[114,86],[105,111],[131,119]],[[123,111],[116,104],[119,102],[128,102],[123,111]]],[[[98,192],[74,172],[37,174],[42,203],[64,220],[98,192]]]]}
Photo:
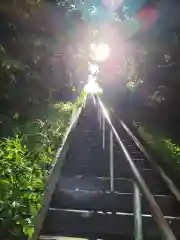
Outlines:
{"type": "Polygon", "coordinates": [[[103,118],[105,118],[106,122],[109,125],[110,131],[113,132],[113,136],[116,138],[119,146],[121,147],[122,152],[125,156],[125,159],[129,163],[130,169],[134,175],[134,180],[137,183],[141,192],[144,194],[146,200],[148,201],[152,216],[154,217],[155,221],[158,223],[159,228],[161,229],[164,238],[166,240],[176,240],[174,233],[172,232],[170,226],[168,225],[166,219],[164,218],[164,216],[163,216],[158,204],[156,203],[153,195],[151,194],[147,184],[145,183],[143,177],[141,176],[135,163],[133,162],[129,152],[127,151],[125,145],[123,144],[121,138],[119,137],[115,127],[113,126],[106,108],[104,107],[102,101],[100,100],[100,98],[97,95],[96,95],[96,99],[98,102],[98,106],[101,109],[102,116],[103,116],[103,118]]]}

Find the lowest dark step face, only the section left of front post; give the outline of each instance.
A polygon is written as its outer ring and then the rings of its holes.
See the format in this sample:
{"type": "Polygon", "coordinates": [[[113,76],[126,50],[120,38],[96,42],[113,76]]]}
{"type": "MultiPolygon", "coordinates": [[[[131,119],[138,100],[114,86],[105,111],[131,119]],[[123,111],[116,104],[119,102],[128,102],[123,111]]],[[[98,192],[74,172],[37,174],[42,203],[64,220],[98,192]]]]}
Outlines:
{"type": "Polygon", "coordinates": [[[129,233],[133,234],[133,217],[50,209],[41,234],[61,236],[67,233],[73,237],[95,235],[99,238],[106,234],[128,236],[129,233]]]}

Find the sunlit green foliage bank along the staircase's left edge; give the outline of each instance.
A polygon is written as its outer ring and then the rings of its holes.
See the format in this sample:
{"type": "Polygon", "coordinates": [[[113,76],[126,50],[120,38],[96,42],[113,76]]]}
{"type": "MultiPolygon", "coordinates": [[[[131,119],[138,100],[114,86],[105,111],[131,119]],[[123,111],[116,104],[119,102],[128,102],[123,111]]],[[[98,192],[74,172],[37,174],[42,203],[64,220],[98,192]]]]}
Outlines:
{"type": "Polygon", "coordinates": [[[21,239],[32,234],[32,221],[41,207],[45,179],[68,126],[72,106],[63,102],[51,105],[44,119],[19,126],[14,137],[0,141],[3,239],[21,239]]]}

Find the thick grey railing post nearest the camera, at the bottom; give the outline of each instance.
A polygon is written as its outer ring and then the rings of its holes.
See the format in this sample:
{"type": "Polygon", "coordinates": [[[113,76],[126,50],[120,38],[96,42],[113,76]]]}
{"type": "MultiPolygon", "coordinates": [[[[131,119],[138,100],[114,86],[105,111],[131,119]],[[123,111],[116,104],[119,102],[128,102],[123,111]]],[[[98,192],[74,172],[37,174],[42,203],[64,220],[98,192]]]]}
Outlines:
{"type": "Polygon", "coordinates": [[[134,239],[143,240],[142,215],[141,215],[141,196],[135,182],[134,185],[134,239]]]}

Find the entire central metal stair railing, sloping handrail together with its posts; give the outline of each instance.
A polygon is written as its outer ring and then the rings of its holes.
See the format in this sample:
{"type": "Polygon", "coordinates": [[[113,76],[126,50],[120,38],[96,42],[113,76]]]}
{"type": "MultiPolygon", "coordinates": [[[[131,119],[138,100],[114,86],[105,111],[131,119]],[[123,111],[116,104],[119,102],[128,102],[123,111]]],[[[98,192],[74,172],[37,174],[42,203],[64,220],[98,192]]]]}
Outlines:
{"type": "Polygon", "coordinates": [[[147,184],[145,183],[143,177],[141,176],[139,170],[137,169],[135,163],[133,162],[129,152],[127,151],[123,141],[118,135],[115,127],[113,126],[109,113],[105,108],[104,104],[100,100],[99,96],[93,96],[96,106],[98,109],[98,120],[100,123],[100,128],[103,134],[103,147],[105,148],[105,134],[106,134],[106,125],[108,126],[110,132],[110,186],[111,191],[114,191],[114,160],[113,160],[113,142],[114,139],[118,142],[126,161],[129,164],[130,170],[133,173],[134,177],[134,234],[136,240],[143,239],[143,230],[142,230],[142,214],[141,214],[141,196],[140,191],[144,195],[145,199],[149,203],[150,211],[152,217],[157,222],[159,229],[165,240],[176,240],[174,233],[172,232],[169,224],[163,216],[158,204],[156,203],[152,193],[150,192],[147,184]]]}

